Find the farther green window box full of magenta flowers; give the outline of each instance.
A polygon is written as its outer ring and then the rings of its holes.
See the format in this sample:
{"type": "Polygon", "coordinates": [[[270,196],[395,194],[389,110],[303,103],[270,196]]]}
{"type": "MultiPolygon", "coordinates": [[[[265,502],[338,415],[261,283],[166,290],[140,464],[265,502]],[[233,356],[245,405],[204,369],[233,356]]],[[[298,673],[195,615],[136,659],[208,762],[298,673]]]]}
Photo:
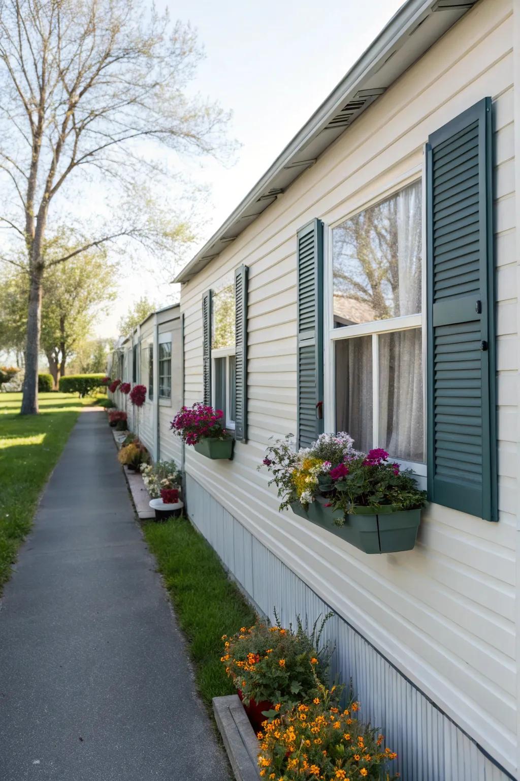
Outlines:
{"type": "Polygon", "coordinates": [[[182,407],[170,428],[188,445],[206,458],[233,458],[235,440],[222,426],[221,409],[197,401],[193,407],[182,407]]]}

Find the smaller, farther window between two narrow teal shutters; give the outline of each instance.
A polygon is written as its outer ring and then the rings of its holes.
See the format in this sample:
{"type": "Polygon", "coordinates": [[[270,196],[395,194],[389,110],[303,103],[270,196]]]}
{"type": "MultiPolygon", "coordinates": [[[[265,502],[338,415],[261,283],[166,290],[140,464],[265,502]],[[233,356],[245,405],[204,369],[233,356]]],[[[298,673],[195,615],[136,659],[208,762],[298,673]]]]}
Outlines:
{"type": "Polygon", "coordinates": [[[235,276],[226,274],[211,298],[213,405],[224,412],[225,426],[235,428],[235,276]]]}

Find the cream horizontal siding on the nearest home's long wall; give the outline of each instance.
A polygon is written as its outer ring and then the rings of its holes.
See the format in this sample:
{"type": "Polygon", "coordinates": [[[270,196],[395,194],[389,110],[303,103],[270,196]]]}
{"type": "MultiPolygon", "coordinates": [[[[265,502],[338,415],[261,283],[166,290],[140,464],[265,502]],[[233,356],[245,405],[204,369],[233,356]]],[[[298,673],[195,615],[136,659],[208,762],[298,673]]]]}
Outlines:
{"type": "MultiPolygon", "coordinates": [[[[247,444],[233,462],[186,448],[186,472],[507,769],[516,766],[515,529],[518,521],[518,280],[515,265],[513,20],[483,0],[318,162],[182,287],[185,401],[202,398],[201,298],[249,266],[247,444]],[[338,223],[423,166],[428,135],[493,98],[500,522],[430,506],[414,551],[368,556],[291,512],[258,473],[296,423],[296,231],[338,223]]],[[[327,398],[327,389],[326,395],[327,398]]],[[[345,676],[348,679],[348,670],[345,676]]]]}

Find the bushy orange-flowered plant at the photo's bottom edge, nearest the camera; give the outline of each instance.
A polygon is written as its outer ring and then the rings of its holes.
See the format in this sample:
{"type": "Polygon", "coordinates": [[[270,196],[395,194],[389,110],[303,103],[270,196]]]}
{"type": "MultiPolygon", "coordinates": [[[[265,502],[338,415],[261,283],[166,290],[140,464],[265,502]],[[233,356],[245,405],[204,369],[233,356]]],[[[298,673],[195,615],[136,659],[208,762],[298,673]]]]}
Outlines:
{"type": "Polygon", "coordinates": [[[258,733],[260,776],[275,781],[387,781],[397,754],[382,749],[384,736],[358,719],[359,703],[338,708],[338,690],[317,681],[311,701],[282,711],[258,733]]]}

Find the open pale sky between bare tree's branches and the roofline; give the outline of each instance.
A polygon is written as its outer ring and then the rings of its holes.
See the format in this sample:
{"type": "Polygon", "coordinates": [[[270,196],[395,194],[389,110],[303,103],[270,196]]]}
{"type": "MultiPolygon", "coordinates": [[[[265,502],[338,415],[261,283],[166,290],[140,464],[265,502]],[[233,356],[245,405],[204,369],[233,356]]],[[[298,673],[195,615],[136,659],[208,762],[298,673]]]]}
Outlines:
{"type": "MultiPolygon", "coordinates": [[[[210,186],[204,241],[217,230],[318,105],[370,45],[402,0],[191,0],[168,7],[192,23],[206,59],[193,87],[232,109],[229,128],[242,147],[235,165],[207,162],[194,173],[210,186]]],[[[198,164],[197,164],[198,165],[198,164]]],[[[193,255],[196,248],[193,249],[193,255]]],[[[99,336],[117,335],[119,317],[147,294],[162,306],[164,285],[130,274],[99,336]]]]}

